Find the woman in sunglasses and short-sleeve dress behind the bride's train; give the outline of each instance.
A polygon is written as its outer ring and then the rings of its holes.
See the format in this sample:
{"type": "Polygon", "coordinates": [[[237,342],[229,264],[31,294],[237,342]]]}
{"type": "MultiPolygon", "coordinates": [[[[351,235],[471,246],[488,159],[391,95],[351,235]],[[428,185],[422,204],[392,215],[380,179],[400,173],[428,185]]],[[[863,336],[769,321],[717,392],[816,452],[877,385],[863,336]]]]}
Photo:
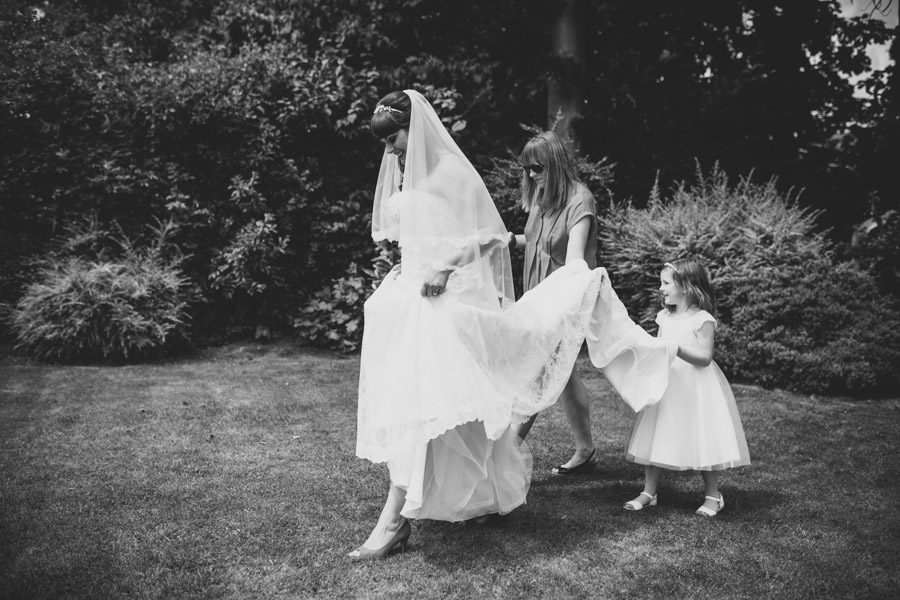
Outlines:
{"type": "MultiPolygon", "coordinates": [[[[527,292],[566,263],[584,260],[591,269],[597,266],[597,207],[593,194],[578,180],[565,146],[552,131],[529,140],[519,160],[523,168],[521,202],[528,211],[528,222],[524,235],[510,234],[510,247],[525,250],[523,285],[527,292]]],[[[597,464],[590,398],[575,371],[559,401],[572,427],[575,452],[552,472],[588,473],[597,464]]],[[[535,416],[518,427],[521,438],[528,435],[535,416]]]]}

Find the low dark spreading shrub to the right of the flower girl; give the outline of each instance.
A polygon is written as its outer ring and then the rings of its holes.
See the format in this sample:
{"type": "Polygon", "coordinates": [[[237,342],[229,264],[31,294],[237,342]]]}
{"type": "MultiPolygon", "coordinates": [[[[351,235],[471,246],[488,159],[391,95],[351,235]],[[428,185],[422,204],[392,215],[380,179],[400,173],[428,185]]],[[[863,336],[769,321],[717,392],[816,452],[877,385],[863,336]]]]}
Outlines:
{"type": "Polygon", "coordinates": [[[857,396],[900,390],[900,305],[854,263],[773,265],[736,282],[719,362],[767,387],[857,396]]]}

